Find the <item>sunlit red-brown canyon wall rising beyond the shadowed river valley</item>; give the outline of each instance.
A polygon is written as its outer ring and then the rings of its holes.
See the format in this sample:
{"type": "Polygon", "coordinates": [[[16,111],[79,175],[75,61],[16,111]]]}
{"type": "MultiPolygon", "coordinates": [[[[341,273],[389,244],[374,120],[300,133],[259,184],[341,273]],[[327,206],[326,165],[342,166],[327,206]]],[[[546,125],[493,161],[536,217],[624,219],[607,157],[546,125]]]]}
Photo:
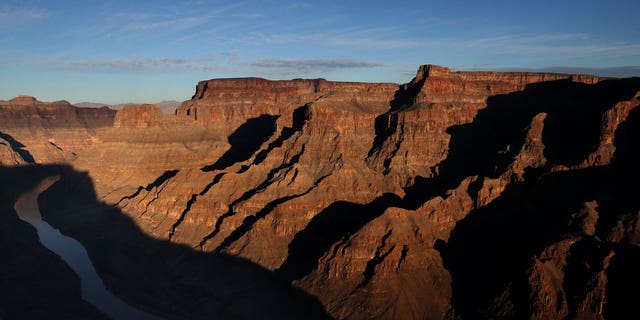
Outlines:
{"type": "Polygon", "coordinates": [[[202,81],[175,116],[19,98],[0,131],[87,171],[145,234],[264,267],[337,318],[600,317],[640,239],[619,187],[639,90],[426,65],[402,86],[202,81]]]}

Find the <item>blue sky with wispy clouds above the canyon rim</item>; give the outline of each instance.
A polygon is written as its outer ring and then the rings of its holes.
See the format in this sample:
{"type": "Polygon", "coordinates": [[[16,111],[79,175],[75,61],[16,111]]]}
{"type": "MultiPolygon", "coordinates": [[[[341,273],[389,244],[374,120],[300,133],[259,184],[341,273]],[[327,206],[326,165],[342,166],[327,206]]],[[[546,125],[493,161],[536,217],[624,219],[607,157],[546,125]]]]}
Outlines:
{"type": "Polygon", "coordinates": [[[0,100],[183,101],[228,77],[640,76],[640,1],[2,0],[0,100]]]}

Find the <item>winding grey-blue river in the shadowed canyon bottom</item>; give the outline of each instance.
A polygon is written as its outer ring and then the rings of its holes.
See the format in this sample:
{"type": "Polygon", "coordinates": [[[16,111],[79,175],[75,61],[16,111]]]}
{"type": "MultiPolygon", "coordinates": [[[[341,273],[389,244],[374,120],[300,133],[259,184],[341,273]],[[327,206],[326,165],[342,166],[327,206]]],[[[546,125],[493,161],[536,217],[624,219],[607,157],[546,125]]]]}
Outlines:
{"type": "Polygon", "coordinates": [[[14,204],[20,219],[34,226],[42,245],[58,254],[78,275],[82,287],[82,298],[85,301],[113,319],[161,319],[133,308],[107,291],[82,244],[63,235],[42,220],[38,208],[38,195],[58,179],[58,177],[46,178],[33,190],[20,195],[14,204]]]}

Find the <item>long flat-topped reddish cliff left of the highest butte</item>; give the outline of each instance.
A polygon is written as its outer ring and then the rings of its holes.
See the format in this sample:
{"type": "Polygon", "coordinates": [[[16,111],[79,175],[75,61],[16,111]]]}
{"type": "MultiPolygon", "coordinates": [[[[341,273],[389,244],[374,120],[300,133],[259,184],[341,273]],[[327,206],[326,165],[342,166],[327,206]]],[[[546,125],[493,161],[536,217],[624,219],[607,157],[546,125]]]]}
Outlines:
{"type": "Polygon", "coordinates": [[[248,119],[263,114],[290,113],[297,107],[319,100],[340,103],[344,109],[384,112],[396,89],[395,84],[330,82],[324,79],[213,79],[198,83],[193,98],[185,101],[176,110],[176,115],[190,117],[204,125],[227,124],[228,133],[231,133],[248,119]]]}

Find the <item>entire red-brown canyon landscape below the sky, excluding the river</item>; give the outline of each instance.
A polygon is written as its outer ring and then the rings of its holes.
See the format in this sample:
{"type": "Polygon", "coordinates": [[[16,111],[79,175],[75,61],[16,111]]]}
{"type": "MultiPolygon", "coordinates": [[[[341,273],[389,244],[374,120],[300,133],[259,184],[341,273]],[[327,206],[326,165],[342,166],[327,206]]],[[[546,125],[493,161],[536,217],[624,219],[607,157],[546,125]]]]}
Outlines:
{"type": "Polygon", "coordinates": [[[201,81],[172,115],[0,101],[0,319],[605,319],[640,298],[640,78],[201,81]],[[52,276],[55,275],[55,276],[52,276]]]}

